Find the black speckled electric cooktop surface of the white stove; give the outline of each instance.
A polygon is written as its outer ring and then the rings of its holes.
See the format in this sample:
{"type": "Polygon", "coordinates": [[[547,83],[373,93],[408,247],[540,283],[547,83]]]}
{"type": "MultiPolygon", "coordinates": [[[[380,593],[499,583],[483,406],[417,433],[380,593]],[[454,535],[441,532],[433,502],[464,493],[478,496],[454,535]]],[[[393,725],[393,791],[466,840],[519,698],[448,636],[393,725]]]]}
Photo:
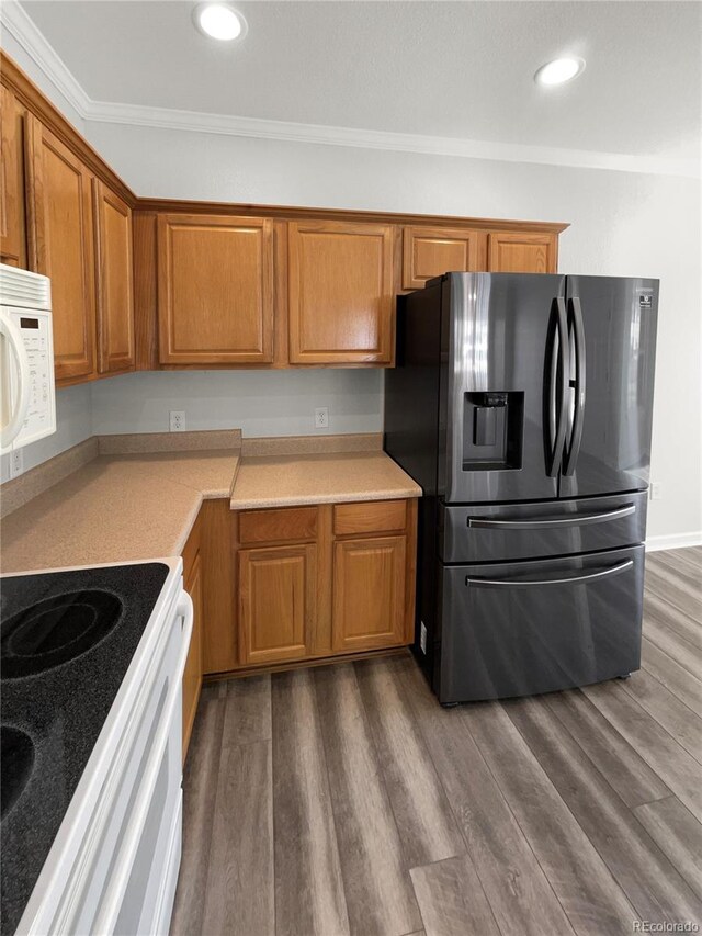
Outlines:
{"type": "Polygon", "coordinates": [[[168,566],[0,579],[2,936],[14,933],[168,566]]]}

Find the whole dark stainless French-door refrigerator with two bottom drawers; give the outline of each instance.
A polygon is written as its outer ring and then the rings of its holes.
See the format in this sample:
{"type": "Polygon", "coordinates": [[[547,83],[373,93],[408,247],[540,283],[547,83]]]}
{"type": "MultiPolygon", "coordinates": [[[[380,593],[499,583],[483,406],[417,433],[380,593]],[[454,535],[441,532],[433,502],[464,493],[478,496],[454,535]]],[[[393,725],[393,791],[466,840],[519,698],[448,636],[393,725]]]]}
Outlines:
{"type": "Polygon", "coordinates": [[[421,486],[444,704],[641,663],[658,281],[446,273],[400,297],[385,449],[421,486]]]}

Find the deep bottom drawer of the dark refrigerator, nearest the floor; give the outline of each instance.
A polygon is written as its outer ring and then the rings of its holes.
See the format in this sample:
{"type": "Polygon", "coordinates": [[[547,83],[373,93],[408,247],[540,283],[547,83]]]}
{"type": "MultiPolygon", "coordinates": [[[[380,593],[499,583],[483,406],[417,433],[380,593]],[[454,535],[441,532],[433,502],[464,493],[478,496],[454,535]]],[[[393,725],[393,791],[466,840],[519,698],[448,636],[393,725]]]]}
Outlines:
{"type": "Polygon", "coordinates": [[[638,669],[644,546],[444,566],[442,703],[551,692],[638,669]]]}

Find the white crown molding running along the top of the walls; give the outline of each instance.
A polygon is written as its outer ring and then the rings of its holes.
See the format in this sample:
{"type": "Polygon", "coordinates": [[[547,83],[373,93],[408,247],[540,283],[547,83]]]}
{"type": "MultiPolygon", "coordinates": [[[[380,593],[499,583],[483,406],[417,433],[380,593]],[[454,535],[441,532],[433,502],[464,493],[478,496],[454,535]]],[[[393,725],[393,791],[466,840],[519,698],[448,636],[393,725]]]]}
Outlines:
{"type": "Polygon", "coordinates": [[[543,166],[604,169],[684,178],[700,178],[701,174],[700,161],[695,159],[635,156],[565,147],[390,133],[356,129],[354,127],[259,120],[228,114],[206,114],[171,108],[150,108],[141,104],[93,101],[16,0],[3,0],[0,10],[0,23],[87,122],[241,136],[317,146],[416,153],[460,159],[532,162],[543,166]]]}

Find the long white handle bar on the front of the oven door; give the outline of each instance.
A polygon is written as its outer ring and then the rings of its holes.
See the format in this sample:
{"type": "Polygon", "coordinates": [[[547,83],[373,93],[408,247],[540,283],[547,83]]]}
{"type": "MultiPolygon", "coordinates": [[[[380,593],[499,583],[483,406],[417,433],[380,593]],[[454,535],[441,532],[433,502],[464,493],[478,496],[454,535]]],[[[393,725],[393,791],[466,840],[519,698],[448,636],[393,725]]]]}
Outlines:
{"type": "Polygon", "coordinates": [[[158,780],[161,760],[163,759],[163,753],[166,752],[166,745],[168,744],[168,736],[171,731],[173,715],[176,714],[177,707],[182,704],[181,683],[185,670],[188,653],[190,651],[190,640],[192,638],[194,620],[193,601],[190,595],[184,590],[181,591],[180,598],[178,599],[176,613],[178,617],[183,618],[182,646],[180,655],[178,657],[174,672],[172,673],[171,688],[167,702],[163,706],[163,713],[161,715],[156,737],[154,738],[151,753],[146,764],[141,782],[139,783],[139,791],[134,804],[134,810],[132,811],[129,824],[127,825],[126,833],[122,839],[122,845],[117,854],[115,870],[105,889],[100,911],[92,925],[93,933],[113,933],[117,924],[124,892],[129,882],[129,875],[134,865],[134,858],[136,857],[136,852],[139,846],[141,832],[144,831],[144,823],[146,822],[149,807],[151,804],[151,798],[158,780]]]}

